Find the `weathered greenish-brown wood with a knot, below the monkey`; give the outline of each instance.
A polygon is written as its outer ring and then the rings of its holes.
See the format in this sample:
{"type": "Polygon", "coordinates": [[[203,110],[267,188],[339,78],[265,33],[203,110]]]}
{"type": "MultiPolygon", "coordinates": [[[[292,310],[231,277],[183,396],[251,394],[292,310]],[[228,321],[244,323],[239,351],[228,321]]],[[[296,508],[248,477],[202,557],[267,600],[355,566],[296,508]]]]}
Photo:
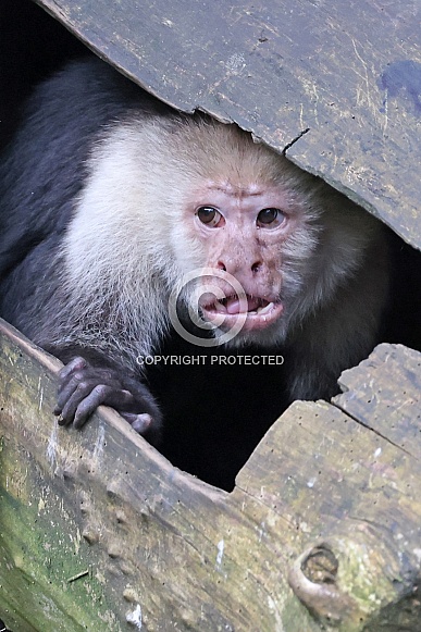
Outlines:
{"type": "Polygon", "coordinates": [[[345,373],[351,417],[296,402],[227,494],[110,409],[58,427],[59,362],[7,324],[0,347],[0,617],[14,632],[420,630],[419,354],[382,345],[345,373]],[[369,387],[379,408],[359,413],[369,387]]]}

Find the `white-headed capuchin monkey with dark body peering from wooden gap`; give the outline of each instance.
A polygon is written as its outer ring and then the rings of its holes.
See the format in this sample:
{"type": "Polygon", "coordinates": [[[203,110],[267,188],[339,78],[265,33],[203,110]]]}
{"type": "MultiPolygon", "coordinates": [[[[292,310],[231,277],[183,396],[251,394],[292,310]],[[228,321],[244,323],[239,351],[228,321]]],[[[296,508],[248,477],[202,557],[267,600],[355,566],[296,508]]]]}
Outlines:
{"type": "Polygon", "coordinates": [[[0,314],[65,363],[62,425],[104,404],[157,443],[139,358],[171,322],[203,346],[287,349],[288,401],[335,395],[377,342],[382,224],[97,59],[35,90],[1,160],[0,221],[0,314]]]}

